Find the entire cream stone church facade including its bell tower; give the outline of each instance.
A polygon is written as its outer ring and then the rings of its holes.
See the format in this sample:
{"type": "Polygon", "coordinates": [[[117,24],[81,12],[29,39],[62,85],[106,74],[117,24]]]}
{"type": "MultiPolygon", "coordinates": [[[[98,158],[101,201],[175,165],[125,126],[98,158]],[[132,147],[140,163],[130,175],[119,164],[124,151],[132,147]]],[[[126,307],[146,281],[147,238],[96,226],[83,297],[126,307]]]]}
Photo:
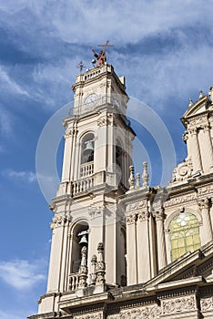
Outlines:
{"type": "Polygon", "coordinates": [[[132,165],[125,77],[105,63],[72,88],[47,292],[29,318],[213,318],[213,98],[190,101],[188,156],[150,187],[147,162],[132,165]]]}

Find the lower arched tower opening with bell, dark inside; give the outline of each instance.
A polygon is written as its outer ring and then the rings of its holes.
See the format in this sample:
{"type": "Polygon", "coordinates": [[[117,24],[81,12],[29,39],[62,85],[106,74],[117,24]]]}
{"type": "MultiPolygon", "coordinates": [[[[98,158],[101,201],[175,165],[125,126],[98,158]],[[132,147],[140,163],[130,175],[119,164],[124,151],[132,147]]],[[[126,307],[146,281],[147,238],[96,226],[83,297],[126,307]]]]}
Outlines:
{"type": "Polygon", "coordinates": [[[81,221],[76,224],[72,234],[71,273],[78,273],[81,263],[81,249],[88,245],[88,224],[81,221]]]}

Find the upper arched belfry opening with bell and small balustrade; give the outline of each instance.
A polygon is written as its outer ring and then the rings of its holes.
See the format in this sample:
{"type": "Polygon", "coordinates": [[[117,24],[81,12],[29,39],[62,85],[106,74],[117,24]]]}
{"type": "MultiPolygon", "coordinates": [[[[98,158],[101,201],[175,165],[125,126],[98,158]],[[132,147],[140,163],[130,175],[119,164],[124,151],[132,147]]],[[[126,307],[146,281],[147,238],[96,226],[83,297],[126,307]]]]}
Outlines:
{"type": "Polygon", "coordinates": [[[80,177],[84,178],[94,173],[95,136],[87,133],[81,140],[80,177]]]}

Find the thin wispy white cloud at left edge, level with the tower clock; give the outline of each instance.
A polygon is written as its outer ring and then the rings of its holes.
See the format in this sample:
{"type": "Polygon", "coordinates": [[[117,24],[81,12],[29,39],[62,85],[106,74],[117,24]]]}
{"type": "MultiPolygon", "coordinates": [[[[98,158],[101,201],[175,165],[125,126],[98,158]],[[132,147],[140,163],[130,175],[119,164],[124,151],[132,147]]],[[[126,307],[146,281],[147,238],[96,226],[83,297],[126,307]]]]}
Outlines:
{"type": "Polygon", "coordinates": [[[2,89],[6,87],[10,91],[12,91],[15,94],[24,95],[29,97],[29,94],[25,91],[23,87],[18,85],[5,71],[4,67],[0,66],[0,83],[2,86],[2,89]]]}

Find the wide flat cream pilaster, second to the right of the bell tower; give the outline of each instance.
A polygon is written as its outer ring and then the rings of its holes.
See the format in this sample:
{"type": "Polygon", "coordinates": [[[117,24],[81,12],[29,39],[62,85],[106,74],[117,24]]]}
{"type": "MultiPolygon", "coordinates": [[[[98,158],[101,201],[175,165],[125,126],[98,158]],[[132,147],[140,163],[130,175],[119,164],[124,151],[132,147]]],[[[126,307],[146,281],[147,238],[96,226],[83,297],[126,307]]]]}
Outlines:
{"type": "Polygon", "coordinates": [[[151,278],[150,240],[148,231],[148,211],[141,211],[137,217],[137,272],[138,283],[146,283],[151,278]]]}

